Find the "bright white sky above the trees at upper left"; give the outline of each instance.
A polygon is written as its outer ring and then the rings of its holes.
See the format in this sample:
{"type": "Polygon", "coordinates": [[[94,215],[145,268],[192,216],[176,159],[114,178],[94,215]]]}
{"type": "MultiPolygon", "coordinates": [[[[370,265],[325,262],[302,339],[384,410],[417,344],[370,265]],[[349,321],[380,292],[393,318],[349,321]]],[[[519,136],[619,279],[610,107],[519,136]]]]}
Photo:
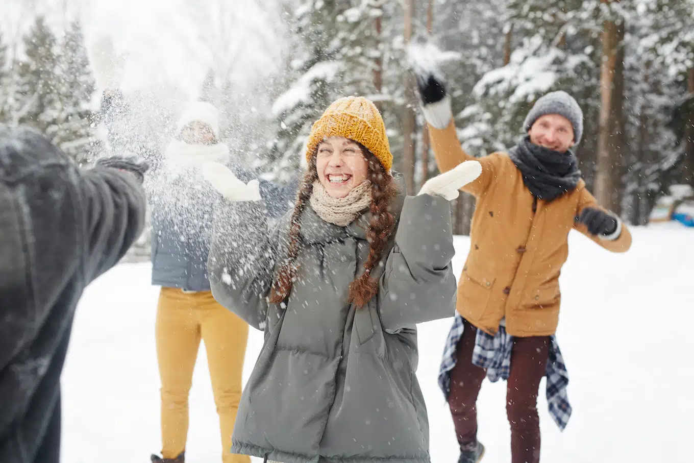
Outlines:
{"type": "Polygon", "coordinates": [[[124,90],[178,85],[196,96],[210,65],[243,87],[281,65],[278,2],[267,0],[2,0],[6,37],[26,31],[35,12],[52,26],[82,19],[87,44],[109,35],[127,53],[124,90]],[[66,15],[67,12],[67,15],[66,15]]]}

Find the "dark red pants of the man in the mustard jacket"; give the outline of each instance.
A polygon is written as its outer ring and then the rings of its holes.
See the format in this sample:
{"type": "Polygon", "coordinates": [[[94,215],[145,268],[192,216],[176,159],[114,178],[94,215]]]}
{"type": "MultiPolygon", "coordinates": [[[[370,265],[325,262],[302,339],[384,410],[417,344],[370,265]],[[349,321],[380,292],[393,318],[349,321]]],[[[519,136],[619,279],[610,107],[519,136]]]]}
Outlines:
{"type": "MultiPolygon", "coordinates": [[[[461,448],[477,440],[477,394],[486,370],[472,362],[477,328],[465,321],[457,346],[457,362],[450,372],[448,405],[461,448]]],[[[540,461],[540,419],[537,394],[545,376],[550,338],[516,337],[506,390],[506,414],[511,424],[511,463],[540,461]]]]}

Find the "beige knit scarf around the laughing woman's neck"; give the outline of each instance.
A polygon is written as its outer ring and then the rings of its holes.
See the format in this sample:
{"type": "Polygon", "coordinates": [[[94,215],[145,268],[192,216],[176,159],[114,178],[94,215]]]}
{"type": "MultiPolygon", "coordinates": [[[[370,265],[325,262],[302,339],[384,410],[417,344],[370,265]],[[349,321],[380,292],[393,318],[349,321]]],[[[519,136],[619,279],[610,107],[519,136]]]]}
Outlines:
{"type": "Polygon", "coordinates": [[[325,191],[321,182],[316,180],[310,204],[318,217],[326,222],[341,227],[348,226],[371,205],[371,181],[364,180],[344,198],[333,198],[325,191]]]}

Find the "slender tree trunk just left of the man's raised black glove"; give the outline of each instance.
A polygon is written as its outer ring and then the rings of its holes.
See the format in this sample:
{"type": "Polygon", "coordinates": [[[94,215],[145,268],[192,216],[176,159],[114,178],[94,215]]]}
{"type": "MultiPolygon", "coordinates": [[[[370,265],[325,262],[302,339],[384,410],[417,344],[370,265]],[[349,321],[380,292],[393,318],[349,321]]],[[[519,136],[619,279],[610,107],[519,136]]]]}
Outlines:
{"type": "MultiPolygon", "coordinates": [[[[413,0],[405,0],[405,33],[403,38],[405,48],[409,45],[412,38],[412,13],[414,11],[413,0]]],[[[405,73],[405,105],[403,105],[403,176],[405,176],[405,185],[407,185],[407,194],[415,194],[414,190],[414,110],[412,103],[414,101],[414,90],[412,81],[412,73],[405,73]]]]}

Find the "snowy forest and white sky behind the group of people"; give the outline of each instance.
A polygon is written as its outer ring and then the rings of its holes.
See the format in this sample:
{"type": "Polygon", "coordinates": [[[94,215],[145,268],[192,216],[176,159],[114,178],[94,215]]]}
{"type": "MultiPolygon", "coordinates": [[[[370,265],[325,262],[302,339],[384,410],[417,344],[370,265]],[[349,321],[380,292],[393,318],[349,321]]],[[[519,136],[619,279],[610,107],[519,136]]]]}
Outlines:
{"type": "MultiPolygon", "coordinates": [[[[694,0],[5,0],[0,123],[98,156],[99,35],[124,56],[133,137],[161,149],[185,103],[211,101],[232,153],[278,181],[348,94],[377,102],[410,192],[437,174],[407,60],[426,41],[468,152],[512,146],[535,99],[561,89],[584,110],[577,155],[604,206],[645,224],[670,185],[694,186],[694,0]]],[[[456,233],[473,207],[456,201],[456,233]]]]}

